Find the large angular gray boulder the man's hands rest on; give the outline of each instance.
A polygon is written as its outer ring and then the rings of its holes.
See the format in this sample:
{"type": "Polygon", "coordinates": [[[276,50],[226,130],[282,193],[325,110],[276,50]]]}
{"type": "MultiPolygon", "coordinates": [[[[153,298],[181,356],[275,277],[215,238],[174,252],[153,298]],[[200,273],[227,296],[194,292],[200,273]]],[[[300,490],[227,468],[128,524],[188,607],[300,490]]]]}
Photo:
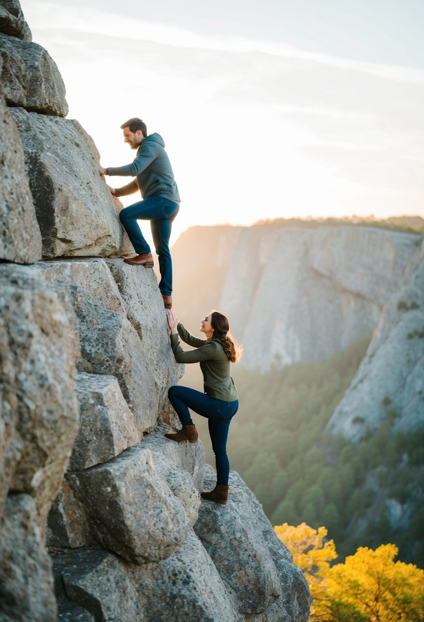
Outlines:
{"type": "Polygon", "coordinates": [[[134,249],[121,203],[98,173],[99,154],[77,121],[11,109],[25,153],[45,258],[114,256],[134,249]]]}

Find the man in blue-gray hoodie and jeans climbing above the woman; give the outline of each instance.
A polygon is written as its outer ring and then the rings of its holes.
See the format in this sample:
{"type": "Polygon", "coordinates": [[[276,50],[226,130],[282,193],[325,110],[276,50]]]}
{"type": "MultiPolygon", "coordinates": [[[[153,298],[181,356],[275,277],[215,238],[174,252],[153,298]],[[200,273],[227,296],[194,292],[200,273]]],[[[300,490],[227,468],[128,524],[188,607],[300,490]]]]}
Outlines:
{"type": "Polygon", "coordinates": [[[147,136],[145,123],[132,118],[122,123],[124,142],[131,149],[137,149],[132,164],[121,167],[99,167],[101,175],[135,177],[122,188],[111,188],[114,197],[124,197],[140,190],[142,201],[121,210],[119,218],[124,226],[137,255],[124,259],[131,266],[153,267],[150,246],[145,241],[137,218],[150,220],[150,229],[159,256],[159,289],[164,299],[165,309],[172,308],[172,260],[169,252],[169,238],[172,221],[180,209],[180,195],[173,177],[172,167],[165,152],[165,142],[159,134],[147,136]]]}

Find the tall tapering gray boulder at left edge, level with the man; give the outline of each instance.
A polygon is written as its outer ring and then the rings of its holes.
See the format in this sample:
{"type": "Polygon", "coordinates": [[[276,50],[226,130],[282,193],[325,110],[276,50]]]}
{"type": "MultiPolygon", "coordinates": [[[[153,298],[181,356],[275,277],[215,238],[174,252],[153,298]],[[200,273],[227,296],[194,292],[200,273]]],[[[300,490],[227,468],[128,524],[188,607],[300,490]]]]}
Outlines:
{"type": "Polygon", "coordinates": [[[41,259],[41,233],[25,170],[21,137],[1,94],[0,119],[0,259],[33,263],[41,259]]]}

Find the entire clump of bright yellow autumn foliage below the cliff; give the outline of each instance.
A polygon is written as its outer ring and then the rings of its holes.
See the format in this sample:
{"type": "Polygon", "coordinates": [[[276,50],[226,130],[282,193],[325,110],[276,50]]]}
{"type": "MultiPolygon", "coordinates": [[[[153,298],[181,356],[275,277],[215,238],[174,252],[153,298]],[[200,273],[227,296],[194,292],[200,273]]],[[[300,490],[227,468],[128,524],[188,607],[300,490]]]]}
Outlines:
{"type": "Polygon", "coordinates": [[[305,574],[313,601],[310,622],[423,622],[424,570],[394,559],[394,544],[376,550],[360,547],[344,564],[332,540],[304,522],[274,527],[305,574]]]}

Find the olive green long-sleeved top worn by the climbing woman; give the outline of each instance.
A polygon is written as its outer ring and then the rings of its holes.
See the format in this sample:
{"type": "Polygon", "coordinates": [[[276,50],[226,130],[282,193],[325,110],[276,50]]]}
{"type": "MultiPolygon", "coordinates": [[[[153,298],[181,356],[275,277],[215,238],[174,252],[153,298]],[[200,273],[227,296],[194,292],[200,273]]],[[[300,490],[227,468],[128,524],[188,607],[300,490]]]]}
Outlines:
{"type": "Polygon", "coordinates": [[[203,374],[203,388],[208,396],[233,402],[237,399],[237,389],[230,374],[230,361],[219,339],[203,340],[190,335],[181,322],[177,326],[178,335],[171,335],[171,346],[178,363],[200,363],[203,374]],[[179,337],[178,337],[179,336],[179,337]],[[185,352],[180,337],[188,345],[196,348],[185,352]]]}

